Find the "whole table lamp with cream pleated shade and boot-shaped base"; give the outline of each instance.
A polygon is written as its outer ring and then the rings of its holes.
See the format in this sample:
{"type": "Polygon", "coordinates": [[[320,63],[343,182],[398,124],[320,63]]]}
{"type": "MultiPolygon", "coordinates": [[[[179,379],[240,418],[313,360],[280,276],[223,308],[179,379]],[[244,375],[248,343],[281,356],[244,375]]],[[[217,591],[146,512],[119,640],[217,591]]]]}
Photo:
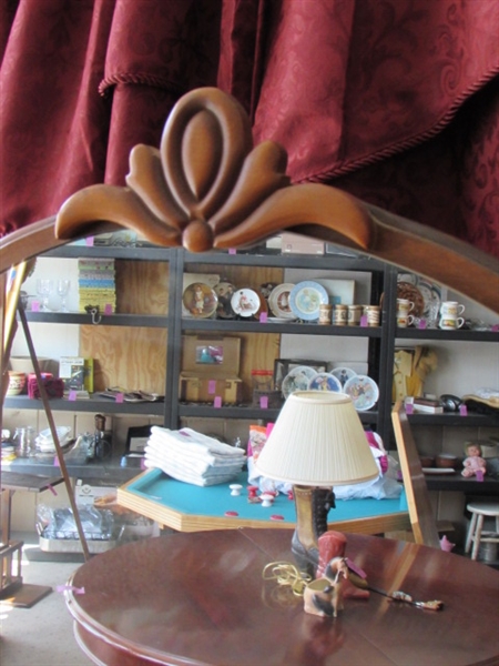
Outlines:
{"type": "Polygon", "coordinates": [[[263,476],[294,486],[292,551],[305,569],[317,567],[318,537],[327,531],[334,506],[333,487],[379,474],[350,397],[320,391],[288,396],[255,467],[263,476]]]}

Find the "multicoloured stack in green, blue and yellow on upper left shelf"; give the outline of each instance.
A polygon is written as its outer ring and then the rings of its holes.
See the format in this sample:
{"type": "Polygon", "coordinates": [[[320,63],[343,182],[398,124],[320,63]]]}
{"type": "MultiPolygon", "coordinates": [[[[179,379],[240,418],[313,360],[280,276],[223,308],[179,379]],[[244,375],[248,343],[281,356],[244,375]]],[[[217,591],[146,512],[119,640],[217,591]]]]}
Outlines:
{"type": "Polygon", "coordinates": [[[78,286],[80,312],[88,306],[98,307],[102,314],[116,311],[116,285],[113,259],[79,259],[78,286]]]}

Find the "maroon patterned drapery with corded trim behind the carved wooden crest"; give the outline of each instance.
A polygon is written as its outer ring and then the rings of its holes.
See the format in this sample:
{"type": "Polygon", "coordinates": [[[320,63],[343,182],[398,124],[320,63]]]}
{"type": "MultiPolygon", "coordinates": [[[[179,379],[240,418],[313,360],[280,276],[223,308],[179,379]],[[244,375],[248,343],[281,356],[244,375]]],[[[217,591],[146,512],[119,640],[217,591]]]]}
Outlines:
{"type": "Polygon", "coordinates": [[[123,184],[187,90],[320,181],[499,256],[497,0],[3,0],[0,233],[123,184]]]}

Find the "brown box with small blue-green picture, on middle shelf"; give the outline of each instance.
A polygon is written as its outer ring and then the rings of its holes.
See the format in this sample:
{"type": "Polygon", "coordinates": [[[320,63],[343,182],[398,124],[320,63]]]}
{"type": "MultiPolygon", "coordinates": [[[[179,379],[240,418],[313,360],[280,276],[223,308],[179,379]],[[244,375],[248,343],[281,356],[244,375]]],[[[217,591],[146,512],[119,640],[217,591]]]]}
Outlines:
{"type": "Polygon", "coordinates": [[[238,377],[240,337],[184,335],[180,400],[185,402],[241,402],[243,382],[238,377]]]}

